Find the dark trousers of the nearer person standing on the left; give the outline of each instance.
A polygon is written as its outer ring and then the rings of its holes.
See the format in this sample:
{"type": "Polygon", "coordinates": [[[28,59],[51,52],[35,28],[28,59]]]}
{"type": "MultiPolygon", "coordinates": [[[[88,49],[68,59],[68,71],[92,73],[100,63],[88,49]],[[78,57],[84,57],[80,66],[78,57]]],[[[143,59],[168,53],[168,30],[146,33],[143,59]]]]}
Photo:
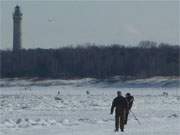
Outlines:
{"type": "Polygon", "coordinates": [[[118,131],[119,127],[121,131],[124,131],[124,120],[125,120],[125,111],[116,113],[115,115],[115,130],[118,131]]]}

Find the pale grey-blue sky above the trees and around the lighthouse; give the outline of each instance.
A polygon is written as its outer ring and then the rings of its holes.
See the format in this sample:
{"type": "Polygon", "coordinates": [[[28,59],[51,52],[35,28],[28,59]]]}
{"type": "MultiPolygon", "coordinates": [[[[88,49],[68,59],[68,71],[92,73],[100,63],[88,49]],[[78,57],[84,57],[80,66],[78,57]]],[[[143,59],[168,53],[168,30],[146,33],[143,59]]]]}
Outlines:
{"type": "Polygon", "coordinates": [[[141,40],[180,44],[179,1],[1,0],[1,49],[12,49],[16,4],[23,13],[23,48],[85,43],[132,46],[141,40]]]}

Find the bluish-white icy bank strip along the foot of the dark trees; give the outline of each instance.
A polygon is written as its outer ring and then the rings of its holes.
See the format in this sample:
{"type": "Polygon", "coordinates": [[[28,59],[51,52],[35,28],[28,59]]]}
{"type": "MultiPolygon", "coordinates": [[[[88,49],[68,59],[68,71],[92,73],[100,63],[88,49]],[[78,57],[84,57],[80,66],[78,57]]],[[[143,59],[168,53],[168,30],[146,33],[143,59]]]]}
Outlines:
{"type": "Polygon", "coordinates": [[[179,77],[152,77],[147,79],[137,79],[137,80],[124,80],[121,76],[115,76],[109,79],[94,79],[94,78],[85,78],[85,79],[76,79],[76,80],[48,80],[48,79],[0,79],[0,87],[24,87],[25,90],[31,90],[31,86],[90,86],[90,87],[124,87],[124,88],[144,88],[144,87],[180,87],[180,78],[179,77]]]}

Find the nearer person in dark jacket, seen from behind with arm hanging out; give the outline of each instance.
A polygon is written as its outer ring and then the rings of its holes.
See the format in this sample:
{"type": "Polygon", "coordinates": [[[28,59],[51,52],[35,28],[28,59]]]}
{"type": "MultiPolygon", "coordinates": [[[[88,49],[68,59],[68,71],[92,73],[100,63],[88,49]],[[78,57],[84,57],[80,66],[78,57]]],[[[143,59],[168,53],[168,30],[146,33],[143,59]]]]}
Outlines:
{"type": "Polygon", "coordinates": [[[125,115],[128,109],[128,103],[126,99],[121,95],[121,92],[117,92],[117,97],[113,100],[111,106],[111,114],[113,114],[114,108],[115,110],[115,132],[119,131],[120,129],[124,131],[124,122],[125,122],[125,115]]]}

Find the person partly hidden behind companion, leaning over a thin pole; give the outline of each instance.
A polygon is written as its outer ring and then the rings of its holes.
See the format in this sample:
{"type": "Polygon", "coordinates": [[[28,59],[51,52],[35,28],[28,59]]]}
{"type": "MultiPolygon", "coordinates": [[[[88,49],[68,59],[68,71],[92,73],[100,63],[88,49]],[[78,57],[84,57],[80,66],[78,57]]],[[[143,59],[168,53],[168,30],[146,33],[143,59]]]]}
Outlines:
{"type": "Polygon", "coordinates": [[[125,124],[127,124],[129,111],[132,108],[132,105],[133,105],[133,102],[134,102],[134,97],[130,93],[126,93],[126,100],[128,102],[128,110],[126,112],[125,124]]]}

